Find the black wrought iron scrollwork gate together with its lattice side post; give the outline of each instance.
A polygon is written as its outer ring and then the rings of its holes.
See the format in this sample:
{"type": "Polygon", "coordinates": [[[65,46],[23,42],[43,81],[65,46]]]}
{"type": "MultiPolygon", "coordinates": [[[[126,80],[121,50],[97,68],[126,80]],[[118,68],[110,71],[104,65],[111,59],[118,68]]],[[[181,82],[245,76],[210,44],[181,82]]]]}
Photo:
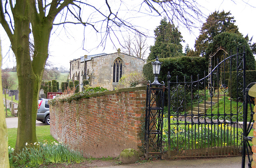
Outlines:
{"type": "Polygon", "coordinates": [[[184,76],[180,82],[177,76],[170,82],[168,74],[166,111],[161,102],[164,84],[148,84],[146,157],[164,152],[169,158],[242,154],[245,52],[230,55],[224,54],[220,62],[211,57],[216,66],[209,65],[209,74],[203,77],[184,76]]]}

